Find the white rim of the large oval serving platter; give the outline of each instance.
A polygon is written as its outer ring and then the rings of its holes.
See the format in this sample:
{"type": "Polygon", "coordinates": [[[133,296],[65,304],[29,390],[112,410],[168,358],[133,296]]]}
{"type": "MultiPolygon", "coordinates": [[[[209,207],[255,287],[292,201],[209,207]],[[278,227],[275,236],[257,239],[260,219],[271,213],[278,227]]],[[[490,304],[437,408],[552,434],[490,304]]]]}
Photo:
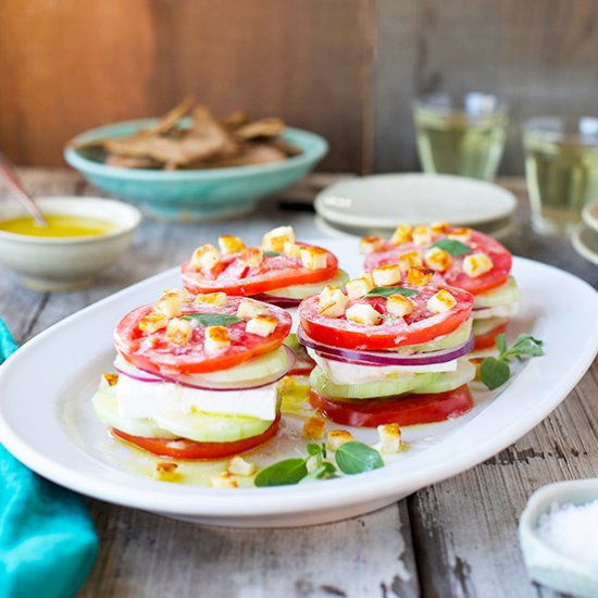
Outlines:
{"type": "MultiPolygon", "coordinates": [[[[544,270],[543,275],[545,277],[552,275],[563,281],[568,281],[569,284],[586,295],[586,300],[594,302],[595,307],[598,308],[598,294],[587,283],[580,278],[539,262],[533,262],[522,258],[515,258],[514,262],[515,266],[520,265],[524,269],[541,269],[544,270]]],[[[9,374],[13,370],[16,370],[20,363],[26,359],[29,350],[33,350],[33,348],[43,342],[48,342],[48,339],[51,339],[53,335],[60,333],[61,328],[66,325],[65,323],[76,323],[76,319],[80,319],[90,312],[101,310],[108,302],[123,299],[132,291],[141,290],[144,287],[157,284],[159,281],[170,279],[170,277],[174,276],[177,272],[178,269],[173,269],[172,271],[167,271],[166,273],[159,274],[133,285],[98,303],[85,308],[42,332],[29,340],[20,351],[14,353],[14,356],[9,358],[7,362],[0,366],[0,389],[4,388],[9,374]]],[[[362,502],[371,502],[378,499],[383,500],[393,496],[406,496],[421,487],[461,473],[493,457],[498,451],[518,440],[560,403],[589,367],[598,350],[598,321],[588,322],[588,325],[584,328],[584,335],[580,340],[581,344],[576,346],[576,359],[573,363],[566,364],[569,367],[566,369],[565,375],[555,377],[549,387],[543,390],[544,394],[540,400],[526,412],[527,416],[525,419],[511,421],[501,428],[500,434],[484,437],[481,444],[476,445],[474,453],[471,451],[464,452],[463,449],[459,449],[459,447],[457,447],[456,450],[457,444],[454,440],[457,435],[453,435],[440,441],[434,449],[415,456],[412,463],[414,465],[412,468],[413,471],[410,471],[407,476],[400,476],[398,481],[396,476],[391,475],[391,473],[389,474],[389,472],[391,472],[391,466],[388,466],[354,477],[349,476],[340,479],[326,481],[322,484],[304,486],[263,489],[248,488],[231,491],[189,486],[174,487],[175,485],[169,485],[152,479],[140,479],[138,483],[134,484],[135,488],[127,487],[126,493],[123,493],[121,486],[107,484],[101,478],[96,478],[92,475],[82,475],[77,472],[73,472],[71,469],[57,463],[50,456],[36,451],[26,443],[23,443],[17,431],[14,431],[10,422],[4,418],[4,406],[8,400],[8,391],[0,393],[0,441],[2,441],[5,448],[17,459],[40,475],[84,495],[127,507],[171,514],[201,515],[204,518],[252,518],[271,515],[274,513],[291,514],[332,508],[341,509],[362,502]],[[447,440],[452,443],[451,450],[454,451],[448,466],[446,462],[435,461],[434,454],[432,454],[438,452],[438,450],[441,453],[443,448],[446,448],[444,445],[447,440]],[[429,461],[433,462],[429,463],[429,461]],[[399,484],[397,484],[397,482],[399,482],[399,484]],[[251,499],[248,500],[248,498],[251,499]]],[[[551,371],[549,365],[555,359],[551,358],[550,353],[547,358],[546,370],[551,371]]],[[[531,384],[534,383],[539,374],[538,369],[541,369],[540,360],[530,361],[526,367],[509,383],[508,388],[506,388],[503,393],[514,393],[518,387],[522,387],[522,389],[525,387],[530,388],[531,384]]],[[[485,411],[482,413],[485,413],[485,411]]],[[[471,432],[474,431],[472,429],[471,432]]],[[[461,444],[463,444],[463,441],[461,441],[461,444]]],[[[450,447],[451,444],[447,446],[450,447]]]]}

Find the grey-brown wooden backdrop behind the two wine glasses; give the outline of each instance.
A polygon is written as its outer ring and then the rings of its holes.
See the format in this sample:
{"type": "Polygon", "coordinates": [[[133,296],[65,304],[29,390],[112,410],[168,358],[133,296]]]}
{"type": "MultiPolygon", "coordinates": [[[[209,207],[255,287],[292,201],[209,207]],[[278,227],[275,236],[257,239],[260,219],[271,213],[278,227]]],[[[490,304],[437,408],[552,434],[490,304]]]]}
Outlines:
{"type": "Polygon", "coordinates": [[[409,105],[418,94],[483,90],[506,98],[512,111],[500,172],[508,174],[523,172],[522,121],[546,113],[596,114],[593,0],[378,3],[385,35],[377,53],[375,170],[419,169],[409,105]]]}

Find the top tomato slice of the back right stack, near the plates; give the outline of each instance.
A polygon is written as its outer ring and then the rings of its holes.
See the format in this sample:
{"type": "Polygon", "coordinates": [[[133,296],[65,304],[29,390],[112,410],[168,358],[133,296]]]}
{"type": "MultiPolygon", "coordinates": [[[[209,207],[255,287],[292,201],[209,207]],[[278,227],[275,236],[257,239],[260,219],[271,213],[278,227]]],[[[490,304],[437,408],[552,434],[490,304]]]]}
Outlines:
{"type": "MultiPolygon", "coordinates": [[[[450,233],[449,233],[450,234],[450,233]]],[[[437,242],[447,238],[446,234],[434,235],[432,242],[437,242]]],[[[463,272],[463,260],[465,256],[451,257],[451,265],[447,272],[440,274],[447,285],[469,290],[473,295],[484,292],[490,288],[498,287],[507,282],[511,272],[512,256],[511,252],[488,235],[472,231],[471,239],[465,242],[473,251],[486,253],[493,260],[493,269],[482,276],[470,278],[463,272]]],[[[399,256],[407,251],[418,251],[422,258],[429,246],[416,246],[412,242],[394,245],[385,241],[381,251],[370,253],[365,258],[364,267],[366,272],[372,272],[374,267],[384,264],[397,263],[399,256]]]]}

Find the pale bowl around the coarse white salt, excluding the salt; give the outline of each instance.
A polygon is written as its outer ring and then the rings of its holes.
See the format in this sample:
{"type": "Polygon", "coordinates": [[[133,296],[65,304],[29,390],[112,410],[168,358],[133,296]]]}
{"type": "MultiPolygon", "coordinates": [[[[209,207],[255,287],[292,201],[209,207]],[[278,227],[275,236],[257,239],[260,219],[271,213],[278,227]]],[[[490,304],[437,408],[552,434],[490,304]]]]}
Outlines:
{"type": "Polygon", "coordinates": [[[519,537],[530,576],[553,589],[574,596],[598,596],[598,570],[548,546],[537,533],[541,514],[557,504],[585,504],[598,499],[598,479],[559,482],[537,489],[519,522],[519,537]]]}

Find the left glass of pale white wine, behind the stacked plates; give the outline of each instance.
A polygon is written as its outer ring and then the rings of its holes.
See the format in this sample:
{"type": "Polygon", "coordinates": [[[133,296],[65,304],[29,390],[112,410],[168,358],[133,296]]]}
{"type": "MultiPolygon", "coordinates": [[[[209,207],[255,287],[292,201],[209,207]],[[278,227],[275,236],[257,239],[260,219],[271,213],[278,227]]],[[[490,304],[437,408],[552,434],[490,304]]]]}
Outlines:
{"type": "Polygon", "coordinates": [[[493,180],[509,122],[508,105],[491,94],[431,94],[413,105],[418,153],[426,173],[493,180]]]}

